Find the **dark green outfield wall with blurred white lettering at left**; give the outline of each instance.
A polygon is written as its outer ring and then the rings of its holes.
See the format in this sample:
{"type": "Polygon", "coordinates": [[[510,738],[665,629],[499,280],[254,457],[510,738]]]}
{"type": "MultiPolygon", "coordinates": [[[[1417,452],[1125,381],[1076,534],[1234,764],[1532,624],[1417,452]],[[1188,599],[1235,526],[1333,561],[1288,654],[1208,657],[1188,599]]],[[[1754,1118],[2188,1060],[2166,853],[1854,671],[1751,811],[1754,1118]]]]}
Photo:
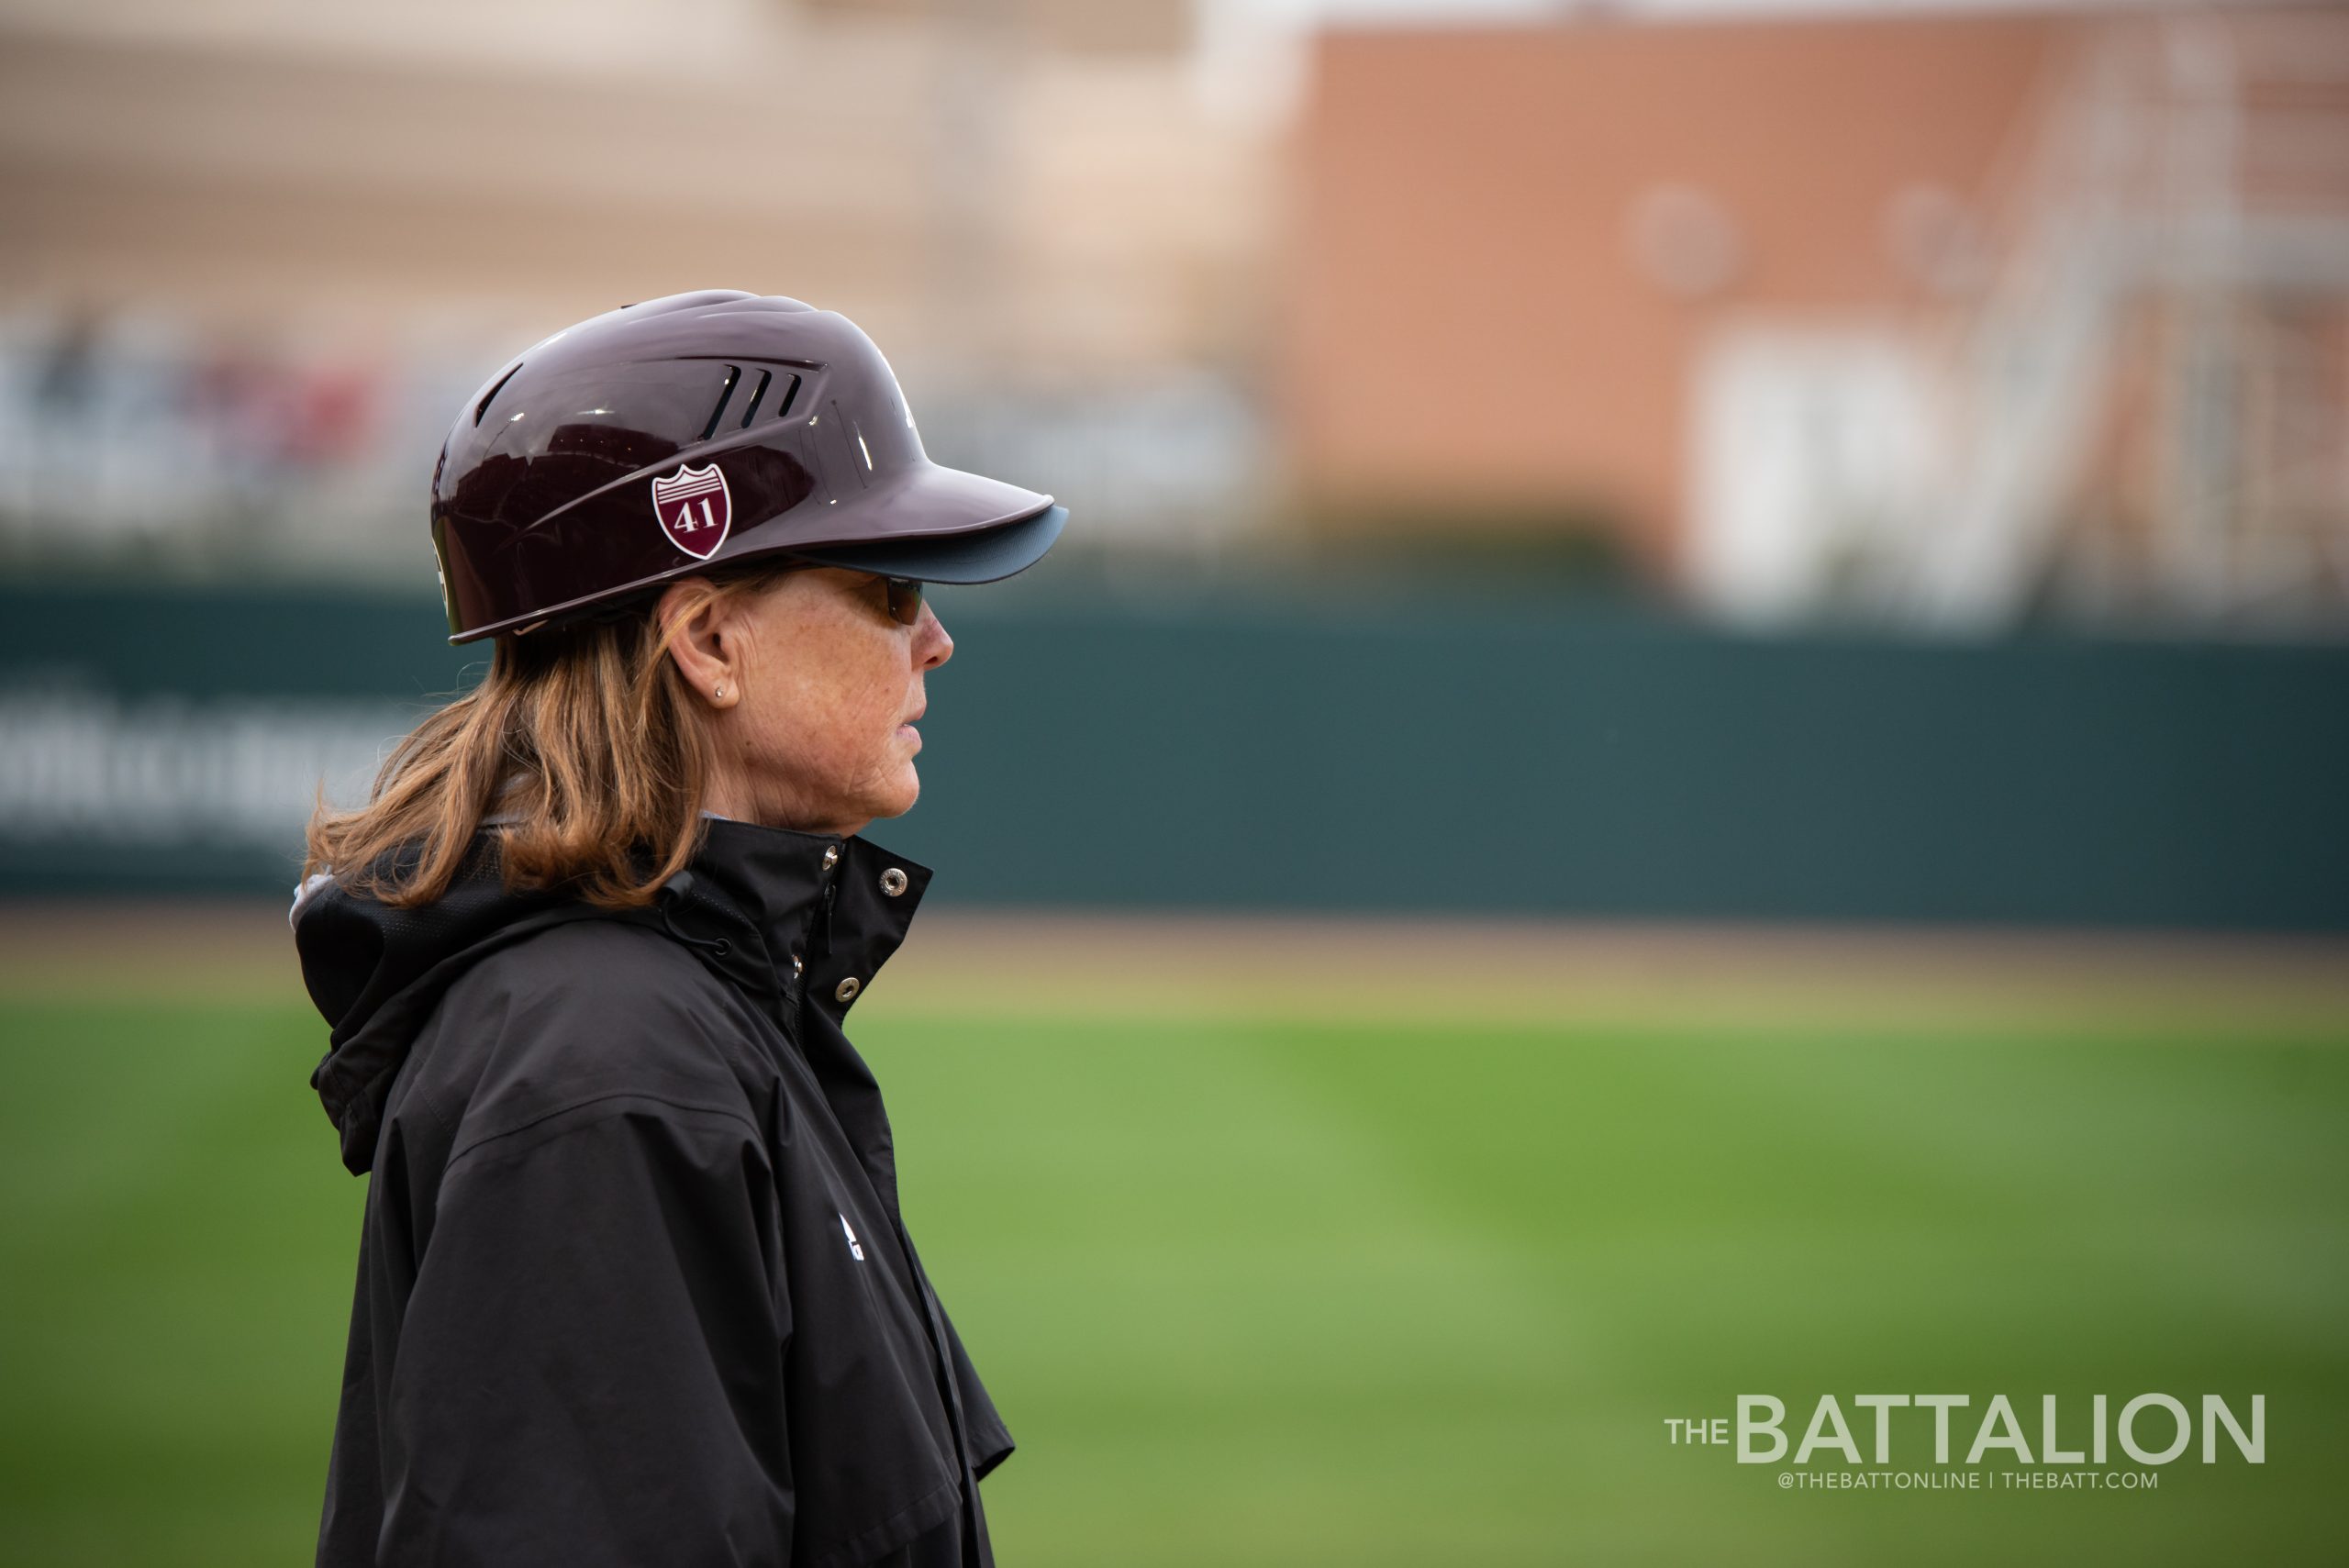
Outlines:
{"type": "MultiPolygon", "coordinates": [[[[1315,603],[942,596],[871,836],[958,904],[2349,927],[2349,646],[1315,603]]],[[[0,589],[0,892],[289,887],[479,657],[413,599],[0,589]]]]}

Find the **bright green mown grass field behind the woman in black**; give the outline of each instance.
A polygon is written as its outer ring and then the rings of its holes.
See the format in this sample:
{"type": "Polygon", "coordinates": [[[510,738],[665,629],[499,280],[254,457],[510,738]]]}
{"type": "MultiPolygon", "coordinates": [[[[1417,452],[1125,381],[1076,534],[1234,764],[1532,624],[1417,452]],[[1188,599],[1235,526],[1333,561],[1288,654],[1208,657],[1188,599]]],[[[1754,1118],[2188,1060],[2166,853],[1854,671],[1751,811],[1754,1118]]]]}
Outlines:
{"type": "MultiPolygon", "coordinates": [[[[857,1021],[1022,1441],[1008,1568],[2349,1554],[2349,1016],[857,1021]],[[2149,1390],[2264,1392],[2267,1465],[1781,1491],[1663,1427],[2004,1392],[2037,1446],[2149,1390]]],[[[0,981],[0,1559],[308,1561],[362,1199],[319,1045],[284,986],[0,981]]]]}

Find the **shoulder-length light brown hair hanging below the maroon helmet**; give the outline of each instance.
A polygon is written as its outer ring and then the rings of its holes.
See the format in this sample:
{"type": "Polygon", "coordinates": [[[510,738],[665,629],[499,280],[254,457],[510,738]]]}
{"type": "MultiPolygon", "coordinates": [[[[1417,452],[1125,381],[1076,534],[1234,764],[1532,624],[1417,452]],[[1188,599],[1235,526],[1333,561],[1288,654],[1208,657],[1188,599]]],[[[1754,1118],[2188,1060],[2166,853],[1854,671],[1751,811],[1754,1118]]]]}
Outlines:
{"type": "Polygon", "coordinates": [[[789,570],[693,580],[665,622],[644,610],[500,636],[482,683],[392,749],[366,805],[319,798],[303,876],[416,908],[449,892],[489,826],[510,890],[651,904],[700,847],[712,770],[709,709],[669,646],[700,610],[789,570]]]}

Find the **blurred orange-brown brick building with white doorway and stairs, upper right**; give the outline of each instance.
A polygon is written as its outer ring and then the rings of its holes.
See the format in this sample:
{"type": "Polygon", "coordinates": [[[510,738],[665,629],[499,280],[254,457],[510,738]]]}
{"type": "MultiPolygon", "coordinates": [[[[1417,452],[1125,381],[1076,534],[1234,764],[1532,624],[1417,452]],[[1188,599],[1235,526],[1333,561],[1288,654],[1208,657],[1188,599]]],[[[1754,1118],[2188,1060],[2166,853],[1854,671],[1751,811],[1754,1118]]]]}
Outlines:
{"type": "MultiPolygon", "coordinates": [[[[2128,448],[2114,378],[2175,423],[2163,366],[2208,357],[2210,343],[2133,350],[2123,317],[2145,298],[2328,300],[2300,347],[2349,366],[2340,21],[2008,12],[1330,35],[1299,122],[1283,340],[1299,500],[1339,530],[1595,528],[1729,610],[1811,608],[1851,556],[1898,580],[1896,596],[2006,615],[2069,549],[2058,533],[2114,509],[2114,474],[2093,472],[2128,448]],[[2246,223],[2271,153],[2300,178],[2293,232],[2246,223]],[[2213,254],[2210,277],[2163,272],[2192,246],[2213,254]],[[1964,561],[1926,559],[1950,542],[1964,561]]],[[[2248,352],[2217,350],[2229,366],[2248,352]]],[[[2304,495],[2283,507],[2300,533],[2253,545],[2337,592],[2349,404],[2333,371],[2311,376],[2283,394],[2330,430],[2302,441],[2304,495]]],[[[2173,434],[2140,432],[2140,455],[2168,462],[2173,434]]],[[[2210,469],[2199,484],[2274,477],[2276,453],[2253,446],[2189,453],[2210,469]]],[[[2241,530],[2241,509],[2215,528],[2241,530]]]]}

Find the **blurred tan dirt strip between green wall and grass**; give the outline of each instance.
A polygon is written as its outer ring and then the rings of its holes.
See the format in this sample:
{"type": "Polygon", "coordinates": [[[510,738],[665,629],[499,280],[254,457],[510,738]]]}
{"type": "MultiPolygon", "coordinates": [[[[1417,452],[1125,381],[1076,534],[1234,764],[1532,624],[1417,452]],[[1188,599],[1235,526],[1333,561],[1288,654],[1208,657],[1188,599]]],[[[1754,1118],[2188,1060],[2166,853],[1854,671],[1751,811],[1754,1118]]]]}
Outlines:
{"type": "MultiPolygon", "coordinates": [[[[258,901],[0,904],[0,995],[301,998],[258,901]]],[[[2349,1030],[2349,939],[926,913],[867,1014],[2349,1030]]]]}

